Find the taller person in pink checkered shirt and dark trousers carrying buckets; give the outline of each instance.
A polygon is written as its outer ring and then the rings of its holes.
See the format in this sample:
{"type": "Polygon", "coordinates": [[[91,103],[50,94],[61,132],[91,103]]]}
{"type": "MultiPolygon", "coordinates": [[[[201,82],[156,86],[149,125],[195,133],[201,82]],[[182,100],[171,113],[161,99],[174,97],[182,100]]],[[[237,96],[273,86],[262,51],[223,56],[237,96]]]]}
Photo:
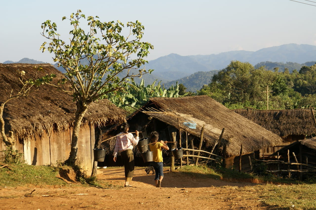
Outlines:
{"type": "Polygon", "coordinates": [[[132,187],[130,185],[130,181],[132,181],[134,175],[134,153],[133,153],[133,144],[137,145],[139,141],[138,133],[139,131],[135,131],[136,137],[134,138],[133,134],[129,133],[128,130],[130,125],[127,122],[124,122],[120,126],[119,136],[116,137],[116,143],[113,153],[113,160],[116,162],[116,157],[118,152],[121,152],[121,158],[124,162],[125,168],[125,187],[132,187]]]}

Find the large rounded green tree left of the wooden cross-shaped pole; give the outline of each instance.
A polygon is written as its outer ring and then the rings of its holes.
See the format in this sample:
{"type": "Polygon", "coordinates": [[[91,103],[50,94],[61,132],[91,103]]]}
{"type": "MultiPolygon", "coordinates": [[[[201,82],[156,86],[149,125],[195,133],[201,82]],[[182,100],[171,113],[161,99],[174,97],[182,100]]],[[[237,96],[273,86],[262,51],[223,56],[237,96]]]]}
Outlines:
{"type": "Polygon", "coordinates": [[[204,86],[198,95],[207,94],[223,104],[262,101],[262,91],[272,84],[275,74],[263,67],[255,69],[248,62],[231,61],[225,69],[213,76],[211,83],[204,86]]]}

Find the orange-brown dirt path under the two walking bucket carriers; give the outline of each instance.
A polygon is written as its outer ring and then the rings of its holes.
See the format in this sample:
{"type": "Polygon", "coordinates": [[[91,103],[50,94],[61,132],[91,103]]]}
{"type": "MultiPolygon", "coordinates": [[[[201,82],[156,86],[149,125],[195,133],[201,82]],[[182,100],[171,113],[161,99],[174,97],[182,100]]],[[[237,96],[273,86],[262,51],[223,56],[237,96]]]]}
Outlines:
{"type": "Polygon", "coordinates": [[[99,179],[118,187],[3,188],[0,209],[272,209],[263,205],[256,192],[242,190],[253,183],[187,178],[166,167],[161,188],[154,186],[155,175],[147,175],[144,168],[135,170],[133,187],[122,187],[123,168],[98,171],[99,179]]]}

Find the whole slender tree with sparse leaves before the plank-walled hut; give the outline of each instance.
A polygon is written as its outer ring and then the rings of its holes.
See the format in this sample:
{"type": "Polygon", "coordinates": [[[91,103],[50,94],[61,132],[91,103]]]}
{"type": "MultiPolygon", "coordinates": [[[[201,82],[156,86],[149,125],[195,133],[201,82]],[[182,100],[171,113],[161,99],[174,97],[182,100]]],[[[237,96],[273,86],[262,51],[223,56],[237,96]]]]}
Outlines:
{"type": "MultiPolygon", "coordinates": [[[[73,27],[70,30],[69,41],[64,41],[57,33],[57,25],[51,20],[42,23],[42,36],[49,40],[41,46],[42,51],[48,50],[55,54],[53,59],[66,71],[66,79],[60,81],[69,84],[72,91],[64,89],[76,101],[75,122],[72,132],[71,151],[68,160],[74,164],[77,156],[77,141],[82,118],[88,106],[108,97],[111,92],[122,90],[130,77],[141,77],[150,73],[145,68],[140,69],[147,61],[143,58],[149,54],[153,46],[142,42],[144,26],[139,22],[127,22],[129,29],[123,34],[124,24],[119,20],[101,22],[98,16],[86,16],[81,10],[72,13],[70,20],[73,27]],[[79,20],[87,20],[88,30],[80,27],[79,20]],[[132,58],[134,56],[134,58],[132,58]],[[118,74],[127,70],[126,76],[119,78],[118,74]],[[133,73],[137,69],[137,73],[133,73]]],[[[86,26],[86,27],[87,27],[86,26]]]]}

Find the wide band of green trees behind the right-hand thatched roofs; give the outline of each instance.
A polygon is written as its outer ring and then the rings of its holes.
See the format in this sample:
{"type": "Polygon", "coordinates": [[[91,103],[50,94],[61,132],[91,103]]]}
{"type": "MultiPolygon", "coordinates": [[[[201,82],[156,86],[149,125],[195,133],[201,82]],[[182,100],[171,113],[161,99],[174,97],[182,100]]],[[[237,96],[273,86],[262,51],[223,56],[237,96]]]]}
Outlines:
{"type": "Polygon", "coordinates": [[[231,63],[215,74],[198,95],[208,95],[228,108],[290,109],[315,106],[316,64],[303,66],[300,72],[279,72],[264,66],[255,68],[247,62],[231,63]]]}

